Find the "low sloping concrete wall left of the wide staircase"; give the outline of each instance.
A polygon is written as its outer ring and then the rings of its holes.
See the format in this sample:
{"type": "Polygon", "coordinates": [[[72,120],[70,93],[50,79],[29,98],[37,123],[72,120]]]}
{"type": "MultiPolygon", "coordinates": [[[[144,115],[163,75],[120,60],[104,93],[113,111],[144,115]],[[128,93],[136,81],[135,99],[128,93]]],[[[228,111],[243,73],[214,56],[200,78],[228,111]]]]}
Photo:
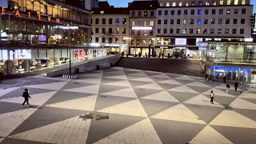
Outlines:
{"type": "MultiPolygon", "coordinates": [[[[116,55],[107,55],[101,58],[94,58],[86,62],[79,62],[71,66],[71,73],[77,74],[78,70],[79,70],[79,73],[97,70],[97,66],[98,66],[98,69],[100,70],[106,69],[110,66],[114,66],[114,64],[118,62],[120,58],[121,58],[121,55],[116,54],[116,55]]],[[[62,76],[63,74],[70,74],[70,67],[67,66],[62,69],[50,71],[47,73],[47,76],[57,77],[57,76],[62,76]]]]}

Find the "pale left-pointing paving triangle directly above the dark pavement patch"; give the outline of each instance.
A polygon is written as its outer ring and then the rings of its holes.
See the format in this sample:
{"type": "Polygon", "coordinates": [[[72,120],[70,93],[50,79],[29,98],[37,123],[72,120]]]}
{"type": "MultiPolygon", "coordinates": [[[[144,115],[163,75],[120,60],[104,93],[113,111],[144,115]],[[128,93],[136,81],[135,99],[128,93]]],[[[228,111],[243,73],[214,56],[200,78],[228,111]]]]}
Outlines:
{"type": "Polygon", "coordinates": [[[93,111],[95,102],[97,99],[97,95],[87,96],[84,98],[72,99],[64,102],[57,102],[50,105],[50,107],[64,108],[64,109],[72,109],[72,110],[88,110],[93,111]]]}

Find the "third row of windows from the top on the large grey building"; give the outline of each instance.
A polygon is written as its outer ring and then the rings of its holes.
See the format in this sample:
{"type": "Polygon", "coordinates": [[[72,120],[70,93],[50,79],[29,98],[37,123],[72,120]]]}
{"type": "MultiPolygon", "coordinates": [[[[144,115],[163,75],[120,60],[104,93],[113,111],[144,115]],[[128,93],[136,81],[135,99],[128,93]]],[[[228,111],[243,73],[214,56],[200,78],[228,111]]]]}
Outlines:
{"type": "MultiPolygon", "coordinates": [[[[188,24],[188,20],[187,19],[183,19],[183,22],[182,22],[184,25],[188,24]]],[[[202,23],[203,24],[208,24],[208,19],[196,19],[196,23],[198,25],[201,25],[202,23]]],[[[210,19],[210,24],[215,24],[215,19],[212,18],[210,19]]],[[[217,22],[216,22],[217,23],[217,22]]],[[[218,24],[223,24],[223,19],[220,18],[218,19],[218,24]]],[[[240,23],[239,24],[245,24],[246,23],[246,19],[245,18],[242,18],[240,20],[240,23]]],[[[162,24],[162,20],[161,19],[158,19],[158,25],[161,25],[162,24]]],[[[164,25],[167,25],[168,24],[168,19],[164,19],[163,20],[163,24],[164,25]]],[[[173,25],[174,24],[174,19],[170,19],[170,24],[173,25]]],[[[181,24],[181,19],[177,19],[176,20],[176,24],[181,24]]],[[[194,24],[194,19],[190,19],[190,24],[194,24]]],[[[230,24],[230,18],[226,18],[225,19],[225,24],[230,24]]],[[[238,24],[238,19],[237,18],[234,18],[233,19],[233,24],[238,24]]]]}

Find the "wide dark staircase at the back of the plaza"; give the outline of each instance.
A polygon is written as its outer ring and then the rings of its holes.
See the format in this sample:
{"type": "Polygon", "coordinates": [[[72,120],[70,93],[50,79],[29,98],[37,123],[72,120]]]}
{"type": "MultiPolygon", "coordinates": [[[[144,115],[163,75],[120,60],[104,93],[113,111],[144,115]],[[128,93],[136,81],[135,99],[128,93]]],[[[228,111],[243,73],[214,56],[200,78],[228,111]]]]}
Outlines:
{"type": "Polygon", "coordinates": [[[198,77],[205,76],[199,61],[187,59],[122,57],[114,66],[198,77]]]}

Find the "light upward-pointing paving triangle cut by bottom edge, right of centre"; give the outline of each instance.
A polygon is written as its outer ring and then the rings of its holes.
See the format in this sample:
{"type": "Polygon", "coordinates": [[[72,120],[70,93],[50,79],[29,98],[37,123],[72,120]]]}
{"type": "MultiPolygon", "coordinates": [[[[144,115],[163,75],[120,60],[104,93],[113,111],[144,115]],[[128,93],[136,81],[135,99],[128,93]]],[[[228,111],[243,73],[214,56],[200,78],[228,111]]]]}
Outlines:
{"type": "Polygon", "coordinates": [[[219,134],[217,130],[214,130],[211,126],[206,126],[201,130],[190,142],[190,144],[216,144],[216,143],[225,143],[232,144],[227,138],[222,134],[219,134]]]}

